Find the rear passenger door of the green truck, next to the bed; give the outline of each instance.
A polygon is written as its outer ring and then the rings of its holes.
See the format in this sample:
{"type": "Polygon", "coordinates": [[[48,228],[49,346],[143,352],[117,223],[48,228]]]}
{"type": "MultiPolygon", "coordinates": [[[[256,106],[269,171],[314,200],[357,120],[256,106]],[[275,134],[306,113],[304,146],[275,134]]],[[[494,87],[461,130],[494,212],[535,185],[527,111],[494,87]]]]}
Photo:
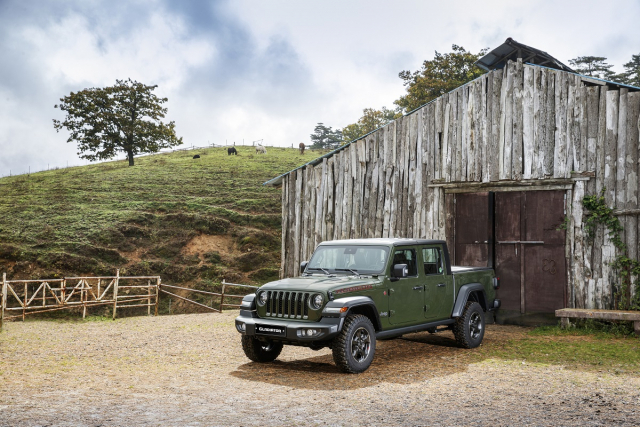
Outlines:
{"type": "Polygon", "coordinates": [[[442,247],[423,246],[420,248],[422,271],[424,274],[424,316],[427,320],[451,317],[453,310],[453,280],[447,275],[442,256],[442,247]]]}

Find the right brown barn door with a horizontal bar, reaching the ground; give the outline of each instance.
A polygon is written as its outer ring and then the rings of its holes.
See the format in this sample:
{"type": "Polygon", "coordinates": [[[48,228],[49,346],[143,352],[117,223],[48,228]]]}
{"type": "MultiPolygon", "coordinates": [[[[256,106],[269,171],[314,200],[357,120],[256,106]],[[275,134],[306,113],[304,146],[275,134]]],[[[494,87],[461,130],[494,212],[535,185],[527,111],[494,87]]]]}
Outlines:
{"type": "Polygon", "coordinates": [[[552,313],[565,306],[564,195],[496,193],[496,275],[503,310],[552,313]]]}

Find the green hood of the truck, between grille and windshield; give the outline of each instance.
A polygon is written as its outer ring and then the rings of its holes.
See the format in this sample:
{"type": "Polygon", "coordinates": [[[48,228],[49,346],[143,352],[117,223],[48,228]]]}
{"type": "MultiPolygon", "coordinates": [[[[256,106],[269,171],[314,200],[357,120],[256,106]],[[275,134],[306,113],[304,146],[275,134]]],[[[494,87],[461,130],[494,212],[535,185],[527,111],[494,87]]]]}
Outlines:
{"type": "Polygon", "coordinates": [[[329,292],[342,288],[350,288],[358,285],[382,283],[382,277],[361,277],[355,276],[319,276],[294,277],[290,279],[277,280],[263,285],[260,289],[277,291],[318,291],[329,292]]]}

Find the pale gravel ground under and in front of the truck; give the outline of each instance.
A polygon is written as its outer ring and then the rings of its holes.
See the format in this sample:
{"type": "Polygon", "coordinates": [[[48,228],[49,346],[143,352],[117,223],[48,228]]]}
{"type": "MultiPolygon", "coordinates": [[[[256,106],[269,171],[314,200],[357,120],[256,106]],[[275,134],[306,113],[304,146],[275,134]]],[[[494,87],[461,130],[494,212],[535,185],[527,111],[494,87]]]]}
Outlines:
{"type": "MultiPolygon", "coordinates": [[[[448,332],[378,341],[361,375],[326,349],[255,364],[235,314],[7,323],[0,426],[640,425],[637,376],[485,358],[448,332]]],[[[526,331],[490,325],[483,347],[526,331]]]]}

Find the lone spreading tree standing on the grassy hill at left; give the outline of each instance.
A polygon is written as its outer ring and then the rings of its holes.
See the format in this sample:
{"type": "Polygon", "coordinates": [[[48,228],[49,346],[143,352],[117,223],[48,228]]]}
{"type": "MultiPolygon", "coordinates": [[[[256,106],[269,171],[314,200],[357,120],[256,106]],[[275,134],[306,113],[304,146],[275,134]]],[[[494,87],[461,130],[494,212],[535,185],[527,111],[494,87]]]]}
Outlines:
{"type": "Polygon", "coordinates": [[[156,153],[182,144],[174,122],[163,123],[167,109],[153,90],[158,87],[128,80],[114,86],[84,89],[60,98],[54,108],[65,111],[63,121],[53,120],[56,131],[66,128],[67,142],[78,143],[78,155],[88,160],[107,160],[118,152],[127,154],[129,166],[139,153],[156,153]]]}

